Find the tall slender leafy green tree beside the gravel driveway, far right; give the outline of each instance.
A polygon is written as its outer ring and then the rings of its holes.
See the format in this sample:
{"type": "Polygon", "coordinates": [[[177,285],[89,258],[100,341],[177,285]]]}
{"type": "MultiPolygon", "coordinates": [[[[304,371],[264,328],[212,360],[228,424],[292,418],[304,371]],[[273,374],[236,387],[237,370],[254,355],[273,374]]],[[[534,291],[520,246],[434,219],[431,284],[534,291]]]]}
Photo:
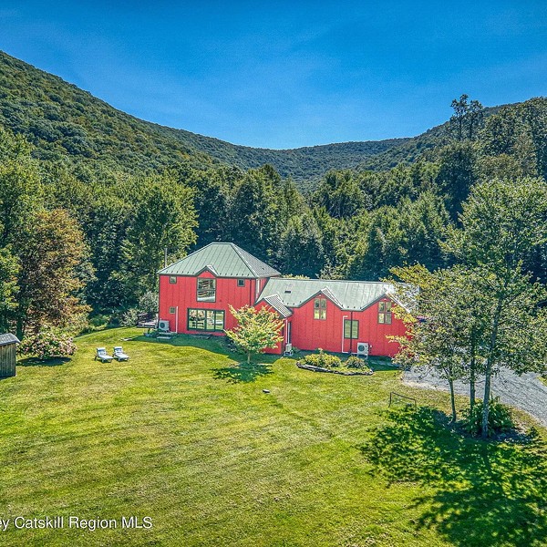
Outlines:
{"type": "Polygon", "coordinates": [[[485,387],[482,436],[489,433],[491,377],[500,366],[542,371],[547,362],[545,288],[523,269],[530,250],[547,241],[547,185],[539,179],[485,181],[464,204],[462,230],[451,229],[447,249],[480,271],[485,387]]]}

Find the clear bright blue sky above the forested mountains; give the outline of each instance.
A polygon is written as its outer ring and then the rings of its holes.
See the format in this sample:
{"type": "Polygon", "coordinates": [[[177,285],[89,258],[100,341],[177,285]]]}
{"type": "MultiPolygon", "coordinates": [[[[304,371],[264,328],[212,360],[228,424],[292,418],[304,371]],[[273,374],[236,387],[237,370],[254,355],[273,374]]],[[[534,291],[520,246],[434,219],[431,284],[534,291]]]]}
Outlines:
{"type": "Polygon", "coordinates": [[[542,2],[0,4],[0,49],[142,119],[294,148],[547,95],[542,2]]]}

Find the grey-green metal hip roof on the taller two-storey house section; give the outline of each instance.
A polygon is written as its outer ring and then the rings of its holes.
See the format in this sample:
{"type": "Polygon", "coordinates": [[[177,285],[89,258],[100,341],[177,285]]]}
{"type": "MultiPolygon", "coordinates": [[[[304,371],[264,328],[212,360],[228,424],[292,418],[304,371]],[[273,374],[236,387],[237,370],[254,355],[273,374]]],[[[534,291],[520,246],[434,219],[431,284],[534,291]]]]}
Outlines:
{"type": "Polygon", "coordinates": [[[268,264],[233,243],[209,243],[179,262],[160,270],[161,275],[198,275],[208,268],[217,277],[272,277],[280,275],[268,264]]]}

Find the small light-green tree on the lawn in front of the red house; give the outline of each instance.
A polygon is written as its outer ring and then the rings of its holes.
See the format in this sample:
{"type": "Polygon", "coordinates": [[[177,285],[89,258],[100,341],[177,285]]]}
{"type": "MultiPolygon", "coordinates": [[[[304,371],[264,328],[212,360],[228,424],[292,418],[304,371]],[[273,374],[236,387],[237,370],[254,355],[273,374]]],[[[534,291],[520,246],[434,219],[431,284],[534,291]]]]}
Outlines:
{"type": "Polygon", "coordinates": [[[230,312],[237,319],[238,325],[232,330],[224,331],[232,342],[247,354],[247,363],[251,363],[253,353],[260,353],[266,347],[274,347],[283,340],[280,331],[283,321],[275,312],[266,308],[244,305],[239,310],[230,306],[230,312]]]}

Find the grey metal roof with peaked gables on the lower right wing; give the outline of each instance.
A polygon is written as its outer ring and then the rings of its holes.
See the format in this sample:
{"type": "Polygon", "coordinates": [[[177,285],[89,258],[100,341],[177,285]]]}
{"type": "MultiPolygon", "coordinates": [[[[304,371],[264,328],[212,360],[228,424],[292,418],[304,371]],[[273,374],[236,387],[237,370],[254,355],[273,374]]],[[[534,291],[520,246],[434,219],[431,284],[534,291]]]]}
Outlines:
{"type": "Polygon", "coordinates": [[[264,286],[259,300],[277,295],[285,306],[300,307],[316,294],[323,293],[341,309],[356,312],[391,295],[392,290],[392,284],[381,282],[277,277],[264,286]]]}

